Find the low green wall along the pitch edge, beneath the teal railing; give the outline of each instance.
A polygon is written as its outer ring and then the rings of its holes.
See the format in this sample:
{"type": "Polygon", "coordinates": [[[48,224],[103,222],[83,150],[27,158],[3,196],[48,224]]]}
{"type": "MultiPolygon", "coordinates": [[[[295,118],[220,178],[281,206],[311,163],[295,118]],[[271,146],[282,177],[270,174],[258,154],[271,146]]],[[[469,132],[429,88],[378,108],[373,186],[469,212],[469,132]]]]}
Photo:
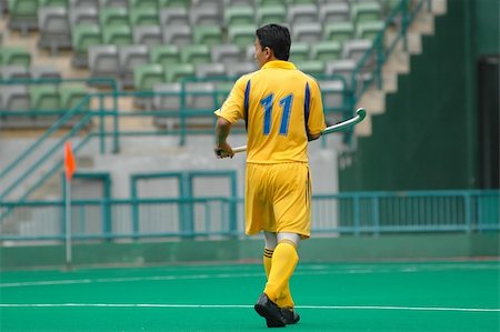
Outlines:
{"type": "MultiPolygon", "coordinates": [[[[302,262],[434,260],[499,256],[499,233],[421,233],[314,238],[299,248],[302,262]]],[[[201,262],[260,263],[263,240],[89,243],[72,247],[73,266],[142,266],[201,262]]],[[[0,269],[63,268],[64,245],[0,247],[0,269]]]]}

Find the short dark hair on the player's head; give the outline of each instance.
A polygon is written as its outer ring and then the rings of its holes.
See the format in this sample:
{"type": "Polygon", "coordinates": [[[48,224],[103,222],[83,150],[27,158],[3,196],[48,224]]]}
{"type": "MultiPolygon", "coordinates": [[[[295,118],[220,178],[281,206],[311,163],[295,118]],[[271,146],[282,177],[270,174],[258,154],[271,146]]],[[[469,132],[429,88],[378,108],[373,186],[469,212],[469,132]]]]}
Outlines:
{"type": "Polygon", "coordinates": [[[267,24],[256,31],[262,49],[270,48],[278,60],[288,61],[290,58],[290,31],[287,27],[278,24],[267,24]]]}

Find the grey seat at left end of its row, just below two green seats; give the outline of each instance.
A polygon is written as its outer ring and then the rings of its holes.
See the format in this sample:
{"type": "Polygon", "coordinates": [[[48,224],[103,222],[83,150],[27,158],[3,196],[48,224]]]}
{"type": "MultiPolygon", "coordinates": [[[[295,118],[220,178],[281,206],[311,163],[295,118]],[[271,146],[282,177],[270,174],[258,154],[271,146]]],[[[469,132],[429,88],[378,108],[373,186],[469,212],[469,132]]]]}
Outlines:
{"type": "Polygon", "coordinates": [[[90,46],[89,70],[92,78],[119,79],[118,47],[113,44],[90,46]]]}

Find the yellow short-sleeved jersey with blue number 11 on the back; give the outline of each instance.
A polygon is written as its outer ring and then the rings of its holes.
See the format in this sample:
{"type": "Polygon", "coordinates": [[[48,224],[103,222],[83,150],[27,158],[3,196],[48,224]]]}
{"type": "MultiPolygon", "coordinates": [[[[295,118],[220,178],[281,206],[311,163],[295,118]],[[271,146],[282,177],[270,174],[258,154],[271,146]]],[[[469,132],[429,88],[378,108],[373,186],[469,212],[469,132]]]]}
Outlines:
{"type": "Polygon", "coordinates": [[[308,162],[308,132],[326,128],[318,83],[282,60],[242,76],[216,114],[246,121],[249,163],[308,162]]]}

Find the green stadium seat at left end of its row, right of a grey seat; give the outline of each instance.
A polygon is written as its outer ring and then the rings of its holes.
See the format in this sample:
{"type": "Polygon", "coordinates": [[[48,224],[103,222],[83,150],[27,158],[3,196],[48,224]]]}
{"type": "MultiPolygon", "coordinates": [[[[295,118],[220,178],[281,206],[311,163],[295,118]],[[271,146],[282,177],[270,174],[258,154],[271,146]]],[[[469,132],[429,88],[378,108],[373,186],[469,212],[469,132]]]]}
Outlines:
{"type": "Polygon", "coordinates": [[[92,44],[101,44],[101,28],[97,24],[77,24],[71,28],[73,48],[72,64],[78,68],[88,67],[88,50],[92,44]]]}

